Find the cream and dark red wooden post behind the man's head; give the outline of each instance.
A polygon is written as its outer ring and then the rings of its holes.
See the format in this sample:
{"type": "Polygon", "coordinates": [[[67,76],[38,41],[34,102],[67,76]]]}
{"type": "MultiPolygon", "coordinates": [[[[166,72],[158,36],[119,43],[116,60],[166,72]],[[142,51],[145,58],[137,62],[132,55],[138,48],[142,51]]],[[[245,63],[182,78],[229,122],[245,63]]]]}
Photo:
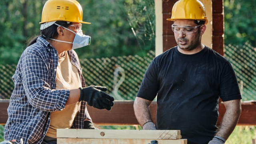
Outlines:
{"type": "MultiPolygon", "coordinates": [[[[178,0],[155,0],[156,13],[156,56],[177,46],[172,31],[172,7],[178,0]]],[[[224,55],[224,8],[223,0],[200,0],[206,8],[208,24],[202,43],[222,56],[224,55]]]]}

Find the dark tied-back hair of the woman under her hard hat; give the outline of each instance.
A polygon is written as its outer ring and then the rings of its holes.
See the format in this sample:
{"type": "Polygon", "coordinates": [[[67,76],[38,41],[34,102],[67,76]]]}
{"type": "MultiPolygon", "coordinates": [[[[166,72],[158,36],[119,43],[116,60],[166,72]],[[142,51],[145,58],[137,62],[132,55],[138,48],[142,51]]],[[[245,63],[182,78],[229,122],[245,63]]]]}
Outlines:
{"type": "MultiPolygon", "coordinates": [[[[57,21],[55,23],[59,24],[60,26],[65,27],[65,28],[67,28],[68,26],[70,26],[72,24],[72,22],[67,23],[67,22],[64,22],[64,21],[57,21]]],[[[53,24],[53,25],[49,26],[48,28],[40,30],[39,35],[31,37],[28,40],[28,44],[27,44],[26,48],[28,46],[31,46],[32,44],[36,43],[36,40],[39,36],[41,36],[42,38],[44,38],[46,40],[49,39],[49,38],[52,38],[52,39],[56,38],[58,36],[58,32],[57,32],[58,26],[56,24],[53,24]]]]}

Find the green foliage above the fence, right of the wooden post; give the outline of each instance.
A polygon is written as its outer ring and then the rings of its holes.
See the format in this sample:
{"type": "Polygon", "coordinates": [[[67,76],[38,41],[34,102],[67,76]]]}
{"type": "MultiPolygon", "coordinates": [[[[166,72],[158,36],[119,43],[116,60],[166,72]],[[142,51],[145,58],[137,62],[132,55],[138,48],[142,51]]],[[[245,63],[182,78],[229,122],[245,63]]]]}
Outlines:
{"type": "Polygon", "coordinates": [[[225,44],[256,47],[256,0],[224,0],[225,44]]]}

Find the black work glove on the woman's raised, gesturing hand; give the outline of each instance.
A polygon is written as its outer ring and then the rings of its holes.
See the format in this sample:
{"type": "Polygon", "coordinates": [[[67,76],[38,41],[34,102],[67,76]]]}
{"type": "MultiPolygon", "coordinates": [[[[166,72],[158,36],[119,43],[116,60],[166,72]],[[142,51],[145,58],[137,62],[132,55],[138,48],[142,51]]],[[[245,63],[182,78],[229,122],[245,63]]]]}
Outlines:
{"type": "Polygon", "coordinates": [[[103,92],[108,90],[105,86],[88,86],[79,89],[81,91],[79,102],[84,100],[89,106],[106,110],[111,110],[111,107],[114,106],[114,98],[103,92]]]}

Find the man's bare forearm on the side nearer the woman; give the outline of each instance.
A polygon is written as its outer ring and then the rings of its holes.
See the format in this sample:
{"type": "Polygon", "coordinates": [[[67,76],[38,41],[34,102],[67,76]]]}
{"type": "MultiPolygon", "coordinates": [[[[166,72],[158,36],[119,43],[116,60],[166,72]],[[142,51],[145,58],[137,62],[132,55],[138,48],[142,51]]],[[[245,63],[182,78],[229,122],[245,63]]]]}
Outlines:
{"type": "Polygon", "coordinates": [[[156,130],[150,115],[149,105],[151,104],[151,102],[152,101],[140,97],[136,97],[136,99],[134,100],[133,107],[135,116],[140,126],[145,130],[156,130]]]}

